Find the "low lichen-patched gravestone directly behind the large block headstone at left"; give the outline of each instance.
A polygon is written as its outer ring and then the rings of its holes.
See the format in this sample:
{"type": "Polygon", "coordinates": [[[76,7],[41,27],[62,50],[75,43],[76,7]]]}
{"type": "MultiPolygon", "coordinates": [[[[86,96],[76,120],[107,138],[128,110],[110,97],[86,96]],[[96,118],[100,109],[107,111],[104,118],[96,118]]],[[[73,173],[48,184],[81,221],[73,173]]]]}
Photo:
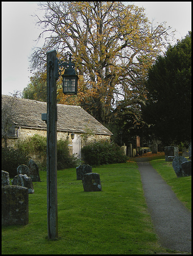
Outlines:
{"type": "Polygon", "coordinates": [[[28,177],[26,174],[18,174],[16,175],[13,180],[11,181],[12,185],[14,186],[22,186],[28,188],[28,193],[33,194],[33,183],[32,179],[28,177]]]}

